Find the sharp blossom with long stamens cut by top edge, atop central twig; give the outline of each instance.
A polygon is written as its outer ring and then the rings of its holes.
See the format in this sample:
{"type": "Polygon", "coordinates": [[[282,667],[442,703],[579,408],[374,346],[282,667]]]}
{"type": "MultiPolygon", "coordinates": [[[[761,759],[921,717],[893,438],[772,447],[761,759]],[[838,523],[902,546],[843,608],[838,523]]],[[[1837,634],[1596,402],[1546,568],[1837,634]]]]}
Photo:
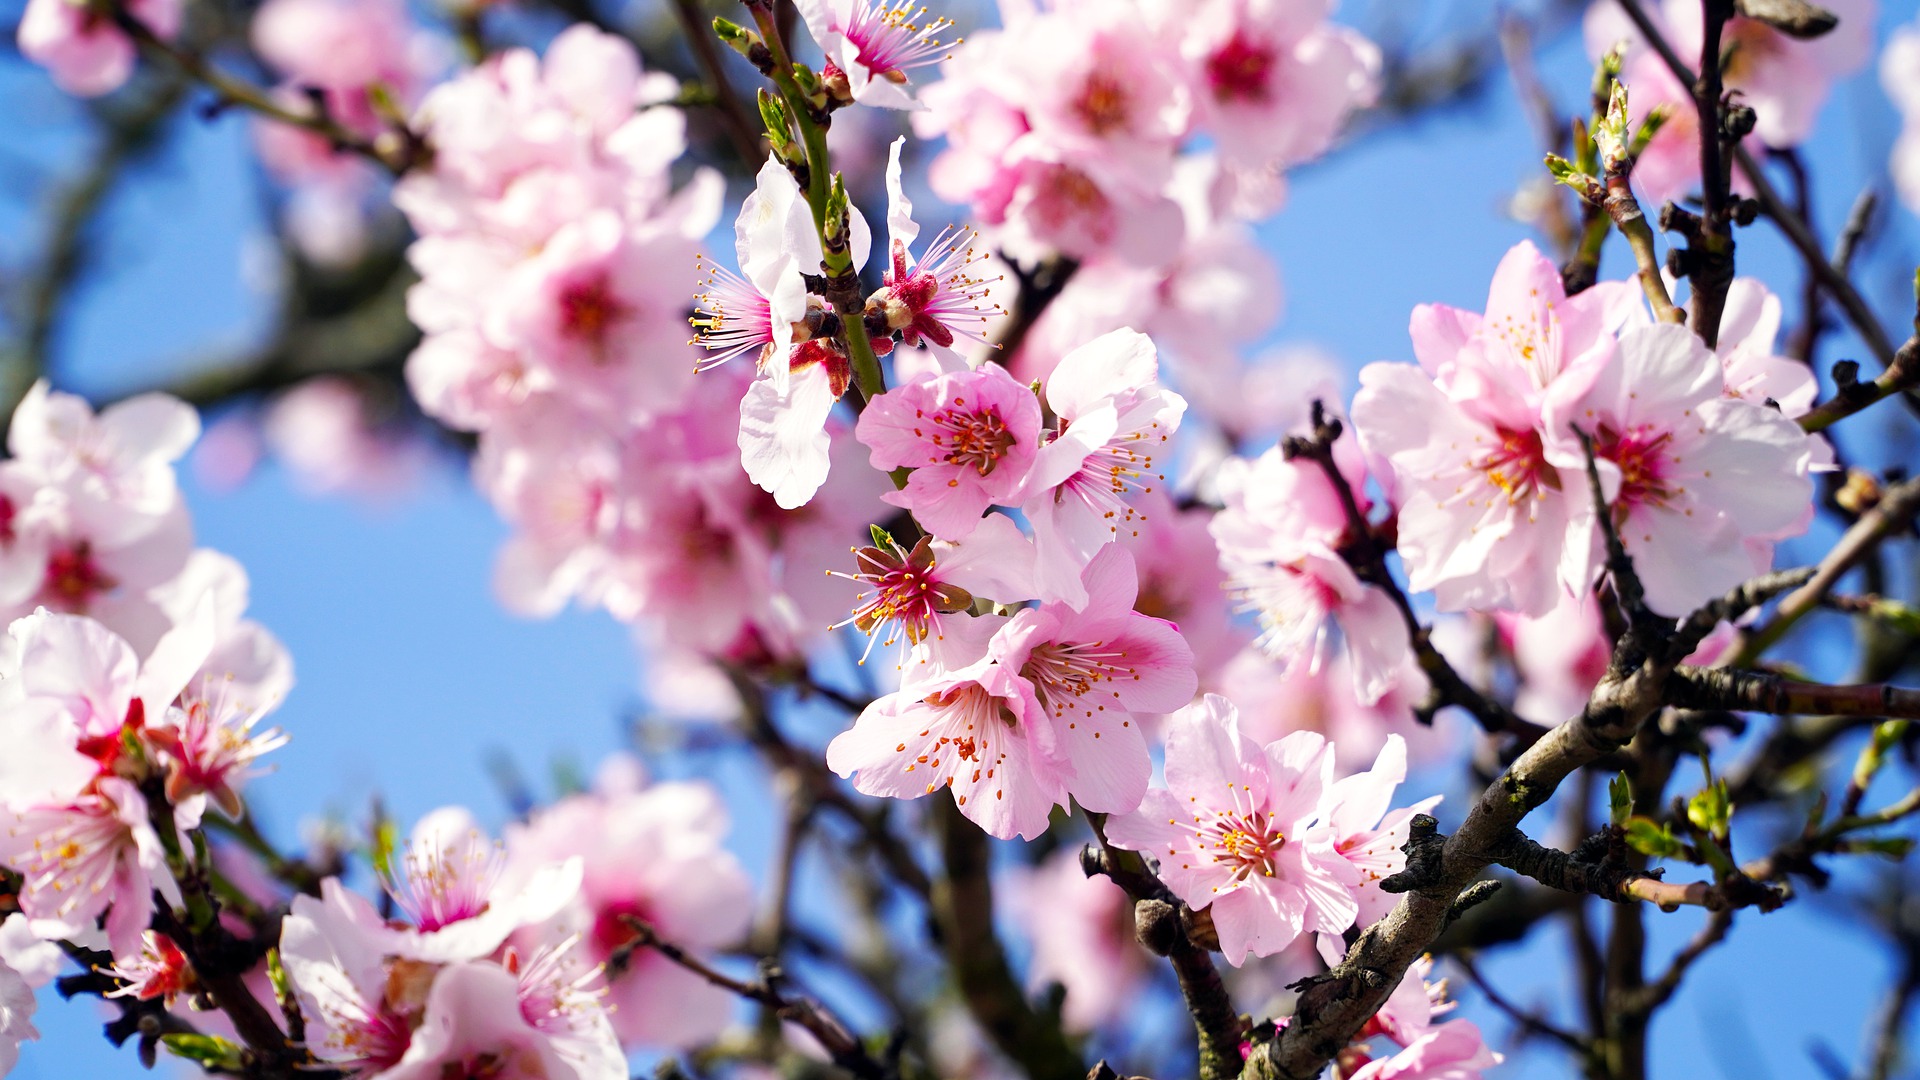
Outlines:
{"type": "Polygon", "coordinates": [[[916,110],[906,73],[939,63],[939,35],[952,19],[927,19],[910,0],[799,0],[806,31],[820,42],[826,79],[845,77],[852,100],[887,110],[916,110]]]}

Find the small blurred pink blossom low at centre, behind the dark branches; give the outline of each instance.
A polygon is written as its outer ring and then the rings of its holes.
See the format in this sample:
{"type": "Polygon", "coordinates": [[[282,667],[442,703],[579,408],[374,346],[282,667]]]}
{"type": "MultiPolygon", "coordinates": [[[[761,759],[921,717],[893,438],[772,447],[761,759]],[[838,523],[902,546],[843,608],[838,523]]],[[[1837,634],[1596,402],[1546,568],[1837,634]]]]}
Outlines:
{"type": "Polygon", "coordinates": [[[1106,878],[1089,878],[1071,846],[1006,880],[1006,911],[1027,930],[1027,992],[1068,995],[1062,1022],[1091,1032],[1127,1013],[1146,982],[1146,953],[1133,940],[1133,899],[1106,878]]]}

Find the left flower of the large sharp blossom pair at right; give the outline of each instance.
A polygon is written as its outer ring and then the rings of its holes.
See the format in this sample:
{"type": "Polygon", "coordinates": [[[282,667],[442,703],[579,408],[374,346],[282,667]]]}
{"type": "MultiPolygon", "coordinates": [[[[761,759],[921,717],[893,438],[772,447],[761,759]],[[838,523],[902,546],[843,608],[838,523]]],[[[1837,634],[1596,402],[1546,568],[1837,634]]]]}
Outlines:
{"type": "Polygon", "coordinates": [[[1486,315],[1413,311],[1419,367],[1359,373],[1354,429],[1392,465],[1407,584],[1442,611],[1544,613],[1590,586],[1594,536],[1572,430],[1548,421],[1594,384],[1640,300],[1626,282],[1567,296],[1532,244],[1500,261],[1486,315]]]}

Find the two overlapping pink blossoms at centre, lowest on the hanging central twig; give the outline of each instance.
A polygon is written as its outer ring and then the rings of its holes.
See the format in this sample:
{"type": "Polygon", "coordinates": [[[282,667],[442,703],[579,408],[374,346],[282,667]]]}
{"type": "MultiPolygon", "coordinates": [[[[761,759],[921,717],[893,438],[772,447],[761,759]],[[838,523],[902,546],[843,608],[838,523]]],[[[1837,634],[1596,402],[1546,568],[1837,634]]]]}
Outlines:
{"type": "Polygon", "coordinates": [[[1083,611],[1062,603],[1012,619],[952,623],[956,657],[868,705],[828,746],[828,767],[870,796],[954,803],[993,836],[1035,838],[1068,799],[1100,813],[1139,805],[1152,773],[1137,713],[1192,698],[1192,651],[1160,619],[1133,611],[1133,557],[1104,550],[1083,611]]]}

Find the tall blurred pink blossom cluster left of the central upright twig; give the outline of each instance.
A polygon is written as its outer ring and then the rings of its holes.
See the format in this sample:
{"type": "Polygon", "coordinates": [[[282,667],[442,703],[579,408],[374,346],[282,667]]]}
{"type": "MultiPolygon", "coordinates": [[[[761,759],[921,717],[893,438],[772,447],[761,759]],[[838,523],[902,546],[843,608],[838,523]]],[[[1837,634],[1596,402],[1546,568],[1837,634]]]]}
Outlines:
{"type": "MultiPolygon", "coordinates": [[[[516,528],[495,577],[513,609],[578,600],[670,621],[695,651],[791,655],[845,609],[820,567],[885,479],[843,469],[787,515],[741,477],[745,379],[695,379],[685,323],[720,179],[672,186],[672,92],[582,25],[545,60],[507,50],[426,96],[434,160],[396,188],[420,233],[407,379],[480,434],[474,477],[516,528]]],[[[824,415],[816,436],[851,450],[824,415]]]]}

